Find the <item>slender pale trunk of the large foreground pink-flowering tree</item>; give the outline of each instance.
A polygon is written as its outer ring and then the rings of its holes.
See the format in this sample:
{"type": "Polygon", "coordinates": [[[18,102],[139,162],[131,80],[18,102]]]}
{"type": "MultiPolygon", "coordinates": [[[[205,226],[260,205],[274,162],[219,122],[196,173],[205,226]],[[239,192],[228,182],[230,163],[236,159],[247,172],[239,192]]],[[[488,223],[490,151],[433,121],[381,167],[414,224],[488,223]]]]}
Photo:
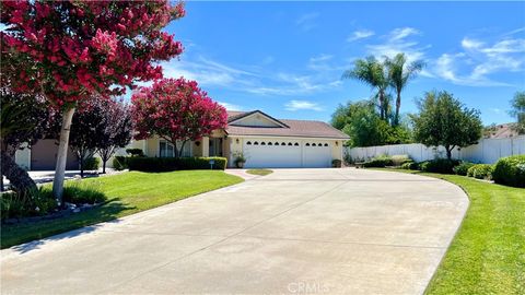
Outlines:
{"type": "Polygon", "coordinates": [[[63,178],[66,175],[66,162],[68,158],[69,131],[73,119],[74,107],[63,113],[62,126],[60,129],[60,142],[58,144],[57,166],[55,168],[55,179],[52,180],[52,196],[57,198],[58,205],[62,204],[63,178]]]}

